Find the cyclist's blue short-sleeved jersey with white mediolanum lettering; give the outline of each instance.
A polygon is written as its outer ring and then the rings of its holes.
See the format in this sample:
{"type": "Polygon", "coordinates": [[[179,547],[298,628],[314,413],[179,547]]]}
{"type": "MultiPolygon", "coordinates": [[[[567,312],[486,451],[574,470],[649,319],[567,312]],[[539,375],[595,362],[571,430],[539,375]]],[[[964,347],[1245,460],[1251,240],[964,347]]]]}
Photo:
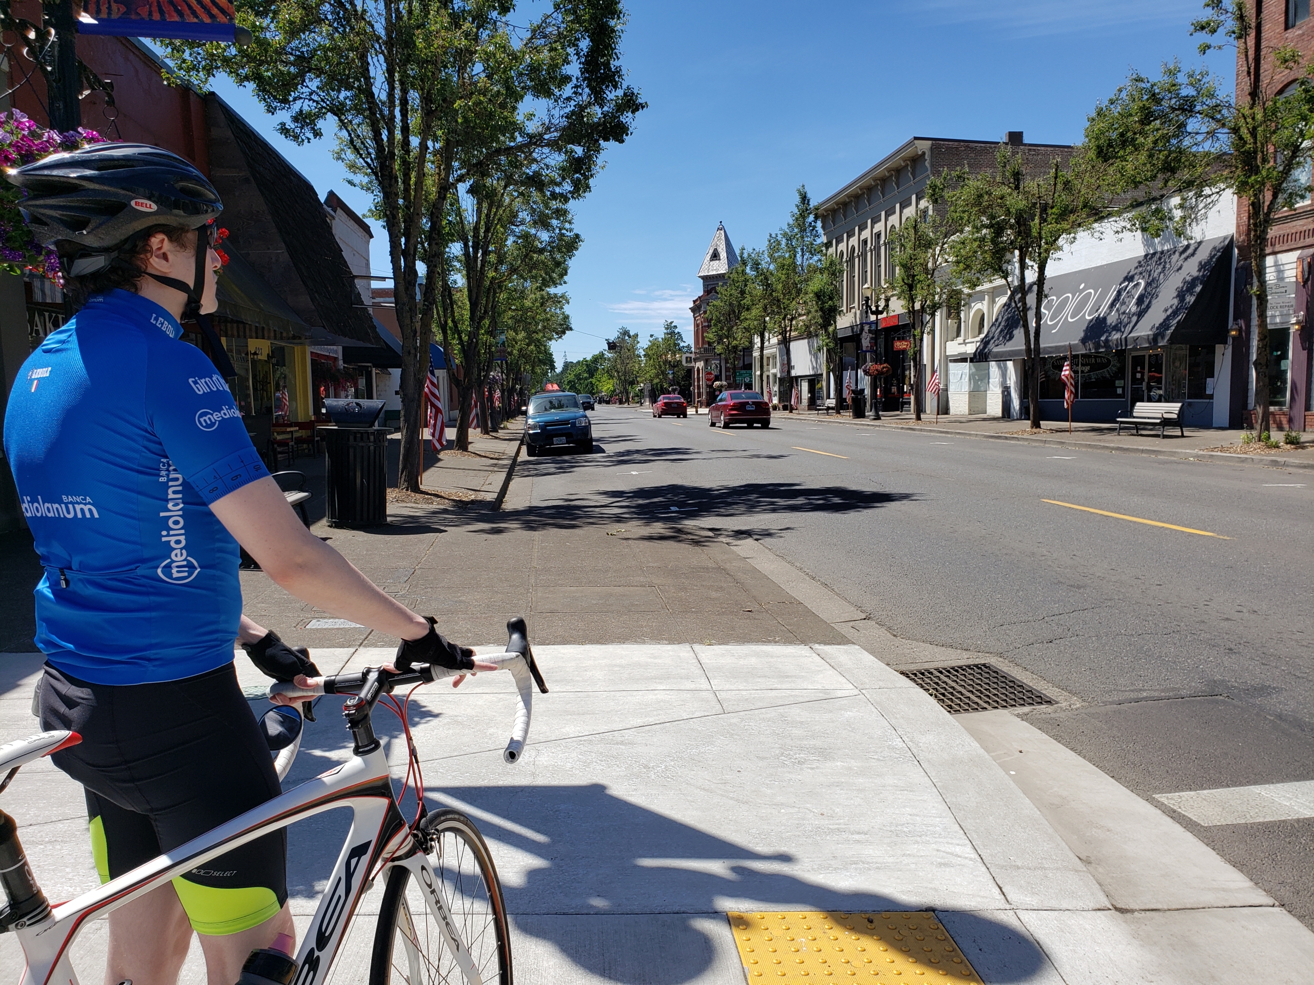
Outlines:
{"type": "Polygon", "coordinates": [[[137,294],[92,297],[22,364],[4,449],[46,569],[38,649],[93,684],[233,659],[238,546],[209,504],[264,462],[223,378],[137,294]]]}

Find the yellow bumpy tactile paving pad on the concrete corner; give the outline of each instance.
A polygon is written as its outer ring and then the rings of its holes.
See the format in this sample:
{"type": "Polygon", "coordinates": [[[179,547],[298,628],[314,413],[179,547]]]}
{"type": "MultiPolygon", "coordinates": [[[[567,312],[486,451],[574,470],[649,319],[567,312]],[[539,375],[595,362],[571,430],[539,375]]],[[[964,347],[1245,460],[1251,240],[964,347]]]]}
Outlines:
{"type": "Polygon", "coordinates": [[[982,985],[933,913],[728,913],[757,981],[958,981],[982,985]]]}

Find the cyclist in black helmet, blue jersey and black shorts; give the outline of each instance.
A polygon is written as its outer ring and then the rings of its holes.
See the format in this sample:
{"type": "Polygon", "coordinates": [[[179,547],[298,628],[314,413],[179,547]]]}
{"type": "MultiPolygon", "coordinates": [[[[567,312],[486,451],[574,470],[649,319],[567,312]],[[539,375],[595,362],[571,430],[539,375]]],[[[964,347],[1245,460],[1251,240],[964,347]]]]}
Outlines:
{"type": "MultiPolygon", "coordinates": [[[[181,340],[183,320],[215,309],[223,205],[205,176],[124,143],[8,176],[83,305],[24,362],[4,448],[45,567],[42,728],[83,737],[54,759],[85,788],[106,881],[279,793],[234,638],[277,679],[317,671],[240,615],[238,544],[285,590],[398,637],[417,663],[494,667],[301,524],[223,376],[181,340]]],[[[116,910],[105,981],[172,985],[196,930],[210,985],[233,985],[252,948],[294,932],[285,860],[280,831],[116,910]]]]}

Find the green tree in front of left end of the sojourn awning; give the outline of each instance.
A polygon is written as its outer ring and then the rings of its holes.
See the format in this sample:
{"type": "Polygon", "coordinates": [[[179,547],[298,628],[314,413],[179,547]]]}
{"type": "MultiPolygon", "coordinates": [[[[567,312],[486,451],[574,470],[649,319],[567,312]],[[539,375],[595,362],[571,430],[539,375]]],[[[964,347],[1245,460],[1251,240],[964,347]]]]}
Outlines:
{"type": "MultiPolygon", "coordinates": [[[[950,294],[991,281],[1008,286],[1024,339],[1031,428],[1041,427],[1041,324],[1050,260],[1080,230],[1110,215],[1114,194],[1106,164],[1083,148],[1024,156],[1007,143],[996,151],[992,171],[958,171],[926,185],[933,211],[943,215],[933,222],[950,234],[947,255],[936,250],[941,263],[950,261],[950,294]]],[[[938,232],[932,239],[943,243],[938,232]]]]}

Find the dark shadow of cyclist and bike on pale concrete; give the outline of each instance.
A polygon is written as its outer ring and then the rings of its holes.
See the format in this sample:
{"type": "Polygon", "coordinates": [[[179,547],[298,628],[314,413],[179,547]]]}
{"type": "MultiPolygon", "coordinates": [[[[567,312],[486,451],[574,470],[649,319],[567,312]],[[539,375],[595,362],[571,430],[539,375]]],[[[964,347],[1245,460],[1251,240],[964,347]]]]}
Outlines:
{"type": "MultiPolygon", "coordinates": [[[[740,905],[783,910],[922,910],[925,901],[879,893],[851,893],[758,867],[794,862],[787,854],[766,855],[612,796],[602,784],[579,787],[468,787],[443,793],[484,813],[480,829],[516,855],[523,884],[506,884],[507,909],[519,932],[551,942],[578,967],[618,982],[678,985],[712,964],[714,942],[695,919],[740,905]],[[518,818],[499,825],[497,818],[518,818]],[[740,902],[742,901],[742,902],[740,902]],[[572,919],[536,919],[535,914],[652,914],[683,917],[681,947],[666,952],[661,968],[631,969],[598,948],[598,931],[581,932],[572,919]]],[[[442,806],[442,793],[430,799],[442,806]]],[[[962,939],[1008,942],[1008,972],[995,968],[992,981],[1025,981],[1043,959],[1016,930],[979,914],[955,913],[962,939]]],[[[606,932],[606,931],[603,931],[606,932]]]]}

